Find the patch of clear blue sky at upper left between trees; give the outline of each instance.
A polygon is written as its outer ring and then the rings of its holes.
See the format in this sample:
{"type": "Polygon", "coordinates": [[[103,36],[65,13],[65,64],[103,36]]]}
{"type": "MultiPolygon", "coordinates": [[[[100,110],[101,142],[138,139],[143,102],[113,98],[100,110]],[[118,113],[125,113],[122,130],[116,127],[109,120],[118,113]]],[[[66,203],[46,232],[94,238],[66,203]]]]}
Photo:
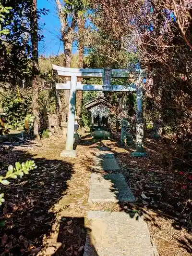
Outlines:
{"type": "MultiPolygon", "coordinates": [[[[61,0],[62,1],[62,0],[61,0]]],[[[55,0],[37,0],[38,9],[48,9],[48,15],[42,15],[39,25],[42,28],[44,40],[39,42],[39,55],[46,56],[63,52],[63,44],[60,40],[60,20],[57,16],[57,6],[55,0]],[[44,25],[45,23],[45,25],[44,25]]],[[[73,53],[76,49],[73,49],[73,53]]]]}

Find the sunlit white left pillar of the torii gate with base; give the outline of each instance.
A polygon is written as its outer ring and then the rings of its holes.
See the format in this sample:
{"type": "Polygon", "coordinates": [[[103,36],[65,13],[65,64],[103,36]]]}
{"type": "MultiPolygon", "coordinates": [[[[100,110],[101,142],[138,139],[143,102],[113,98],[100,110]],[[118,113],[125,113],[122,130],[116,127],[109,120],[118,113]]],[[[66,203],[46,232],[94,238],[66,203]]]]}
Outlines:
{"type": "Polygon", "coordinates": [[[67,122],[67,138],[65,150],[61,152],[61,156],[75,157],[75,150],[73,150],[73,137],[74,137],[74,123],[75,123],[75,103],[76,103],[76,84],[77,77],[71,77],[71,90],[69,96],[69,115],[67,122]]]}

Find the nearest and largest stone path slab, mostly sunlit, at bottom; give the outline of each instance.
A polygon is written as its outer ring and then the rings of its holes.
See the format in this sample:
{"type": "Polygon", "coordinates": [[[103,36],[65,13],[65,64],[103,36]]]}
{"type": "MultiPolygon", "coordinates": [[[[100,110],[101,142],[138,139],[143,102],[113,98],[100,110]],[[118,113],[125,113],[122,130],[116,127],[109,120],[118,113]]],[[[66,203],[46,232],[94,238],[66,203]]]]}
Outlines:
{"type": "Polygon", "coordinates": [[[122,212],[89,211],[90,233],[84,256],[158,256],[142,217],[122,212]]]}

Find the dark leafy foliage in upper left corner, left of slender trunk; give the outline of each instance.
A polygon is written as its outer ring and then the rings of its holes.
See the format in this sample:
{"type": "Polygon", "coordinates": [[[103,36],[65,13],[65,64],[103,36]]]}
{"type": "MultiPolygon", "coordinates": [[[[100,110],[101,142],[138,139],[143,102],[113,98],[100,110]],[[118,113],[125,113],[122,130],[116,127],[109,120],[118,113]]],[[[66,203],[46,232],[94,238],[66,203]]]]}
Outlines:
{"type": "Polygon", "coordinates": [[[0,36],[0,81],[13,82],[29,80],[30,67],[30,1],[2,0],[1,4],[9,8],[1,20],[1,29],[9,30],[0,36]]]}

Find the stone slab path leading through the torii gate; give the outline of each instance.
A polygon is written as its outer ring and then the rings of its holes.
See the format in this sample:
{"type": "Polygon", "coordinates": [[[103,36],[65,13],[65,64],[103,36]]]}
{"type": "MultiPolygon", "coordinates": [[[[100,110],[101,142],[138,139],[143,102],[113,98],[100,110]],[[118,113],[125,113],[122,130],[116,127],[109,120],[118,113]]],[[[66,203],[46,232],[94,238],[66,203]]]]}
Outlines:
{"type": "MultiPolygon", "coordinates": [[[[109,148],[100,147],[93,170],[89,204],[135,202],[124,176],[113,173],[120,172],[120,167],[109,148]],[[104,171],[110,173],[104,174],[104,171]]],[[[125,212],[88,211],[86,219],[89,232],[84,256],[158,256],[141,216],[131,216],[125,212]]]]}

